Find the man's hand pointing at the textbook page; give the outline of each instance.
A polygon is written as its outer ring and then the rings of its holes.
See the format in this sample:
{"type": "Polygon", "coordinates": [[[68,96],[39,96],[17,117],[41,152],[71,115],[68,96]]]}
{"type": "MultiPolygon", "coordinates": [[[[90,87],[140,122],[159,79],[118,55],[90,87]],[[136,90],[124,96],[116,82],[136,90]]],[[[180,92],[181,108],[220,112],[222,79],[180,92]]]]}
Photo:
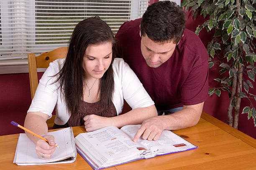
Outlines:
{"type": "Polygon", "coordinates": [[[142,122],[141,128],[133,138],[133,142],[137,142],[140,136],[143,139],[158,140],[164,130],[164,122],[162,116],[155,116],[142,122]]]}

